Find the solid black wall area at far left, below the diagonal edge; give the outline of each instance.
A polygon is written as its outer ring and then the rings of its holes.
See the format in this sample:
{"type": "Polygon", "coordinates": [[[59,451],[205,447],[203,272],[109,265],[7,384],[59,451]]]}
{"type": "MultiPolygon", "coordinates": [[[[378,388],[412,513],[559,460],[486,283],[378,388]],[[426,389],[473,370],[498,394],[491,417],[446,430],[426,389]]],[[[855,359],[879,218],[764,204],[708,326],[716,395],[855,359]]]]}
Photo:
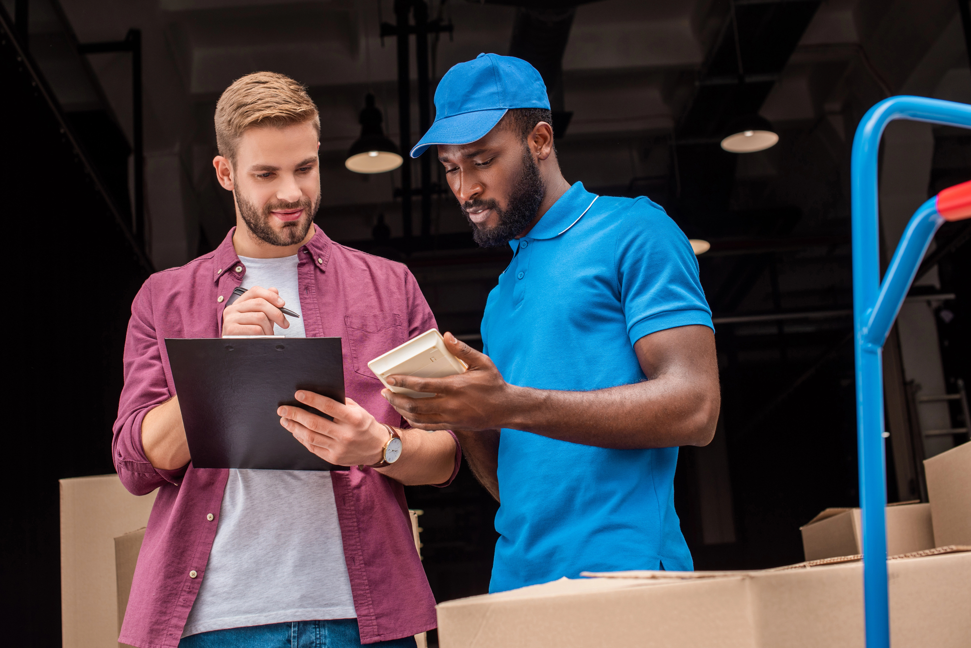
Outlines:
{"type": "Polygon", "coordinates": [[[111,426],[128,307],[151,263],[6,27],[0,177],[12,308],[4,318],[0,608],[5,644],[54,646],[57,480],[114,471],[111,426]]]}

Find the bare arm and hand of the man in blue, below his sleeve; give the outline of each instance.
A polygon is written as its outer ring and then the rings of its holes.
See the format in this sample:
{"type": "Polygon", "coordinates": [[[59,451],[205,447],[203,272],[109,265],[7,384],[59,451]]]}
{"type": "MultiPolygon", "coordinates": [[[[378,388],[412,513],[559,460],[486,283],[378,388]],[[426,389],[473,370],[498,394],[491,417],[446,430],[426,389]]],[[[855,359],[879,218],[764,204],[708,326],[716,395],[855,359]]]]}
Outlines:
{"type": "Polygon", "coordinates": [[[445,378],[392,375],[388,385],[435,394],[382,395],[413,427],[510,428],[604,448],[705,445],[715,434],[720,394],[715,336],[707,326],[657,331],[634,343],[635,384],[586,392],[511,385],[488,357],[450,334],[446,346],[469,367],[445,378]]]}

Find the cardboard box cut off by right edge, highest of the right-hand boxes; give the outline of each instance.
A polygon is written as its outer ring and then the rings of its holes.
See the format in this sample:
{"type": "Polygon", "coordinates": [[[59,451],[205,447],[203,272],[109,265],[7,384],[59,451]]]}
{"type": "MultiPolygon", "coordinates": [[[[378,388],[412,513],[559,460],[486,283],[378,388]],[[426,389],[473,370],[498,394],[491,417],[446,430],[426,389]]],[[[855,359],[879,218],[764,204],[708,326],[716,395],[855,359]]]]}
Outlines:
{"type": "Polygon", "coordinates": [[[936,546],[971,544],[971,442],[925,460],[923,471],[936,546]]]}

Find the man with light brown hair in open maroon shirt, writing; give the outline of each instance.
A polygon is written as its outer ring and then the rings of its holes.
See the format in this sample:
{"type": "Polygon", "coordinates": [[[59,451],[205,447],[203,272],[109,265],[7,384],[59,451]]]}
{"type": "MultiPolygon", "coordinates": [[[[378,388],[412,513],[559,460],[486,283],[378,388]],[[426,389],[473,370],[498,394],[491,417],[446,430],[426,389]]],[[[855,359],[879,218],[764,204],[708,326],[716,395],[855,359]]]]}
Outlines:
{"type": "Polygon", "coordinates": [[[214,252],[151,275],[132,305],[113,457],[128,490],[158,495],[119,641],[414,646],[435,611],[402,484],[448,484],[460,450],[449,431],[401,429],[366,363],[435,319],[405,266],[314,225],[319,117],[299,83],[235,81],[216,130],[214,165],[237,225],[214,252]],[[164,340],[227,335],[343,339],[347,402],[295,394],[333,420],[277,413],[282,434],[350,470],[193,468],[164,340]]]}

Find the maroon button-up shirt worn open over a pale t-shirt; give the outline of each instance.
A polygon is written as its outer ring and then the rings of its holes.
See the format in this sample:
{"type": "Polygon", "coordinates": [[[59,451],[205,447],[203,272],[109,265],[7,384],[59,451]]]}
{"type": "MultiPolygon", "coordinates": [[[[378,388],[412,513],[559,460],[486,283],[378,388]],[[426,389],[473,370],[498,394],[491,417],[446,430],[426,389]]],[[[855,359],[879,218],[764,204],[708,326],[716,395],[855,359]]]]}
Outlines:
{"type": "MultiPolygon", "coordinates": [[[[234,231],[214,252],[151,275],[131,308],[112,453],[129,491],[145,495],[158,489],[118,638],[134,646],[179,644],[216,537],[229,470],[191,464],[156,470],[142,448],[141,431],[146,413],[176,394],[165,339],[221,336],[226,299],[246,275],[233,247],[234,231]]],[[[401,417],[382,398],[382,384],[367,362],[435,327],[415,277],[399,263],[333,243],[319,228],[297,254],[307,337],[342,338],[348,396],[379,421],[400,426],[401,417]]],[[[456,440],[452,478],[460,458],[456,440]]],[[[331,476],[361,641],[434,628],[435,600],[415,550],[401,484],[367,468],[331,476]]]]}

